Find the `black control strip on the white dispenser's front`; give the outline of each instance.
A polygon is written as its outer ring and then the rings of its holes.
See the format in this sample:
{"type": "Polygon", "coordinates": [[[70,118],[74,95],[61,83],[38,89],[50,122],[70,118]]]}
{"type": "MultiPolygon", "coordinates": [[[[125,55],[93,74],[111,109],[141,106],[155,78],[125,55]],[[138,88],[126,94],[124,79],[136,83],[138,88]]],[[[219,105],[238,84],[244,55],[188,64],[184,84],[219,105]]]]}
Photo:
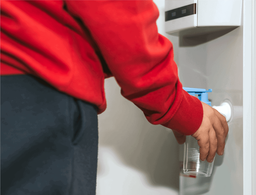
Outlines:
{"type": "Polygon", "coordinates": [[[165,11],[165,22],[196,14],[196,3],[165,11]]]}

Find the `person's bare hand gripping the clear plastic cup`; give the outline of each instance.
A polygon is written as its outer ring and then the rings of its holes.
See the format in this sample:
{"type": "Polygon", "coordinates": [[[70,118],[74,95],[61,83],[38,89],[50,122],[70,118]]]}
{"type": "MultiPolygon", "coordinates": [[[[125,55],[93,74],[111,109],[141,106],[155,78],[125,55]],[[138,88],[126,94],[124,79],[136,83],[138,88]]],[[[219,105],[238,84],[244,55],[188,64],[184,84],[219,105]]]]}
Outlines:
{"type": "MultiPolygon", "coordinates": [[[[200,159],[207,162],[212,162],[215,153],[223,155],[225,140],[228,135],[228,123],[225,117],[216,109],[202,102],[204,116],[199,129],[191,136],[196,138],[200,159]]],[[[186,135],[179,134],[173,131],[173,134],[179,144],[186,141],[186,135]]]]}

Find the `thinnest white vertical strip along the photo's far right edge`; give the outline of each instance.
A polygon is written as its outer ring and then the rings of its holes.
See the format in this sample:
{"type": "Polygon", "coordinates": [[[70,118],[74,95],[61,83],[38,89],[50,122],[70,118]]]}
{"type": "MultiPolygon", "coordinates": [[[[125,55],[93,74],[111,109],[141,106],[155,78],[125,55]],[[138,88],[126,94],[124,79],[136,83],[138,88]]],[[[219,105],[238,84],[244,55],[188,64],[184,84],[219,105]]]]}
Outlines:
{"type": "Polygon", "coordinates": [[[252,1],[252,194],[256,194],[256,1],[252,1]]]}

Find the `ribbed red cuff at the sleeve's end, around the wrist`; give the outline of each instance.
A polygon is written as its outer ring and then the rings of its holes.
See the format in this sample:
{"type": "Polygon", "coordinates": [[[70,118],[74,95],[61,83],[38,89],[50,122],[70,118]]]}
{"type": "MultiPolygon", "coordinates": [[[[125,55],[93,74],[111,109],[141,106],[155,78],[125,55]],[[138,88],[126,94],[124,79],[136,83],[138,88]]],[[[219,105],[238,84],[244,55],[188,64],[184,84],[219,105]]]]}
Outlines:
{"type": "Polygon", "coordinates": [[[203,114],[201,101],[183,90],[183,98],[179,109],[169,122],[162,125],[180,134],[191,135],[200,127],[203,114]]]}

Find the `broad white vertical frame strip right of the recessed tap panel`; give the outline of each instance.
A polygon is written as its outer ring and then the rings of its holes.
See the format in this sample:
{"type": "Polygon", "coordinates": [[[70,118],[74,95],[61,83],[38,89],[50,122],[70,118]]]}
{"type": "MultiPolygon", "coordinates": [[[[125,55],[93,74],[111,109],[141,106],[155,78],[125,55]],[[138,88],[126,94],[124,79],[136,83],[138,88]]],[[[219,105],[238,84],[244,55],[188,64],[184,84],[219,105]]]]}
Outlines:
{"type": "Polygon", "coordinates": [[[252,0],[243,4],[243,194],[252,195],[252,0]]]}

